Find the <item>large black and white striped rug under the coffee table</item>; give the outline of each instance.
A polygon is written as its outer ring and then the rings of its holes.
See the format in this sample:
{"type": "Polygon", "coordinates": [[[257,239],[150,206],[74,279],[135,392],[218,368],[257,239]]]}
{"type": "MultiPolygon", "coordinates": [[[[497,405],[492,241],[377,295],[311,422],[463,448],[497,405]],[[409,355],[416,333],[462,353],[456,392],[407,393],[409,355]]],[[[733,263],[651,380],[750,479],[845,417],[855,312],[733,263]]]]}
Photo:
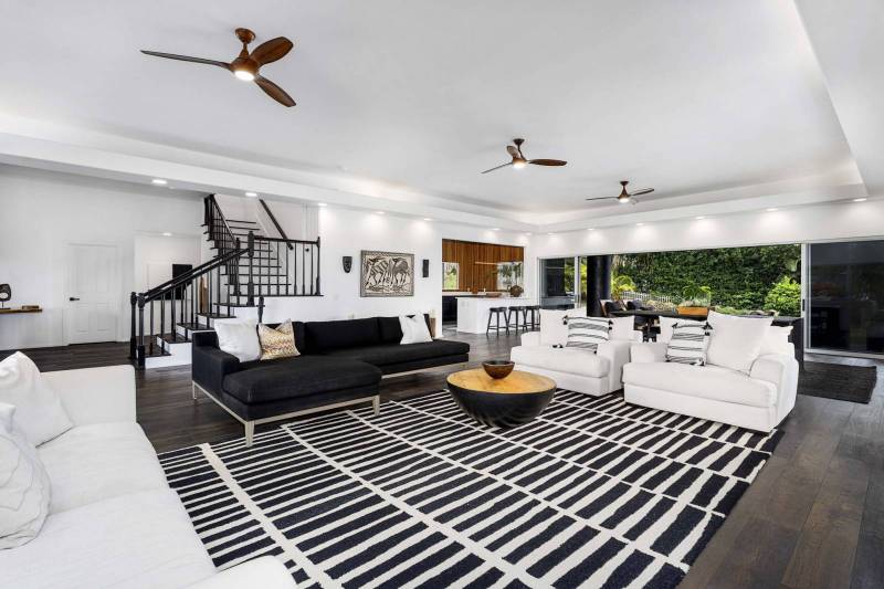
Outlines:
{"type": "Polygon", "coordinates": [[[219,568],[269,554],[298,587],[673,587],[780,433],[569,391],[497,430],[442,391],[160,460],[219,568]]]}

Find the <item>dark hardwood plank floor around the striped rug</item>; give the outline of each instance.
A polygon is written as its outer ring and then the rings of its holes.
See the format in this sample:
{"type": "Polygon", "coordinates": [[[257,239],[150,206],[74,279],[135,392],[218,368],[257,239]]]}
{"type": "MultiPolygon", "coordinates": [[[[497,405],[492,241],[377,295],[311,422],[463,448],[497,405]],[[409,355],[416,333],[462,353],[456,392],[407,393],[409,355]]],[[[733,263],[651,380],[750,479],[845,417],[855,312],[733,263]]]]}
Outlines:
{"type": "MultiPolygon", "coordinates": [[[[471,344],[471,364],[508,357],[517,344],[515,335],[446,335],[471,344]]],[[[41,370],[64,370],[125,362],[128,345],[27,353],[41,370]]],[[[799,396],[779,446],[682,587],[884,587],[884,362],[807,359],[876,366],[872,401],[799,396]]],[[[386,380],[382,397],[439,390],[445,375],[386,380]]],[[[241,425],[213,402],[191,400],[190,367],[140,372],[136,382],[138,422],[158,452],[242,435],[241,425]]]]}

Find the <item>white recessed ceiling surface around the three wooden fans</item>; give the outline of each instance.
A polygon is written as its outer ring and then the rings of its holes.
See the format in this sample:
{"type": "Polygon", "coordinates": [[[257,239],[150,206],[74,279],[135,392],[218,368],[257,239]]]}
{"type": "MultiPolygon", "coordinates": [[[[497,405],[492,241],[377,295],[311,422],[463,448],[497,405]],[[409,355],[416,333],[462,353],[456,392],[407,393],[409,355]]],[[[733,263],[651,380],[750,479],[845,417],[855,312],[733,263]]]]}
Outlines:
{"type": "MultiPolygon", "coordinates": [[[[0,0],[6,114],[278,168],[370,178],[451,208],[650,209],[853,166],[792,2],[0,0]],[[284,108],[222,70],[236,27],[295,50],[262,73],[284,108]],[[17,59],[9,59],[11,56],[17,59]],[[565,168],[480,171],[508,158],[565,168]],[[671,202],[675,202],[671,201],[671,202]]],[[[633,211],[634,212],[634,211],[633,211]]]]}

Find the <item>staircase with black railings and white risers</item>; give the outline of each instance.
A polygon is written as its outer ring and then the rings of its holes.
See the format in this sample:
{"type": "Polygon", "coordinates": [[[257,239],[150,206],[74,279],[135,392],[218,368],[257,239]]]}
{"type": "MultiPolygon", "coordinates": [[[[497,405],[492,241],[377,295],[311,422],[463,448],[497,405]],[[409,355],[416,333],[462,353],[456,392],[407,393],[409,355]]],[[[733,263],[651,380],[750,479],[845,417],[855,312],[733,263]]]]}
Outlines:
{"type": "Polygon", "coordinates": [[[278,236],[257,219],[225,218],[214,194],[206,197],[202,227],[213,257],[131,293],[129,359],[137,368],[190,364],[191,334],[212,330],[239,308],[256,308],[260,320],[266,297],[320,296],[319,238],[288,239],[267,203],[259,206],[278,236]]]}

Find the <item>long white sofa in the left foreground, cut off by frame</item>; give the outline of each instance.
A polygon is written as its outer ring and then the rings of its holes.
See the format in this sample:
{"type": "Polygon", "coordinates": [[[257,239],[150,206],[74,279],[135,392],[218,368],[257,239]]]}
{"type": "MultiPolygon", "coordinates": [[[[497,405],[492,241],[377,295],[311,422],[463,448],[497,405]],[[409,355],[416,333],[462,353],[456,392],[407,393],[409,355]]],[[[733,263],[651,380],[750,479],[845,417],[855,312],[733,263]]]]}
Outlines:
{"type": "Polygon", "coordinates": [[[74,428],[38,448],[50,515],[33,540],[0,550],[0,586],[291,589],[264,557],[217,572],[135,421],[130,366],[44,372],[74,428]],[[194,585],[196,583],[196,585],[194,585]]]}

